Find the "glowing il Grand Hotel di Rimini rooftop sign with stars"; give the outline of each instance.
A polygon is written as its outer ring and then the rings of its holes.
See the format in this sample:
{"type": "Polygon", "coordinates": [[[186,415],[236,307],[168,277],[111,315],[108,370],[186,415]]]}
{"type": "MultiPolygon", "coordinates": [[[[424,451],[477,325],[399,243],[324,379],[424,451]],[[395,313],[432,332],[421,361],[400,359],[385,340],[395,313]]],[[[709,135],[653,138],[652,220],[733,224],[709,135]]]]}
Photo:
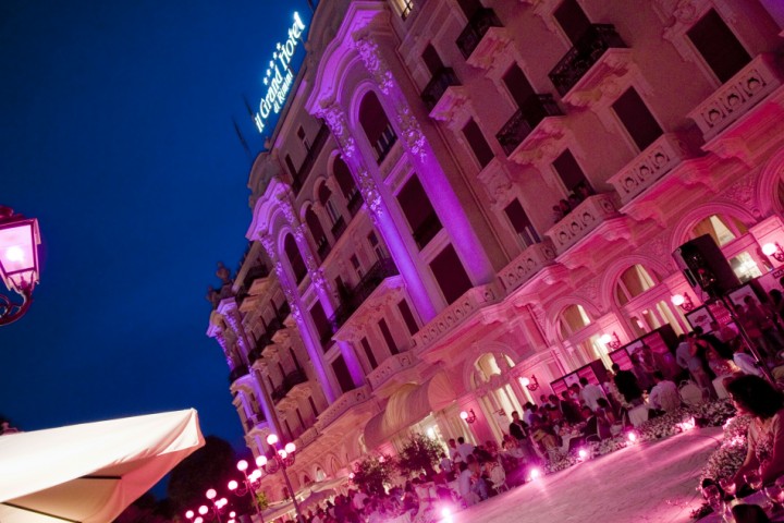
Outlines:
{"type": "Polygon", "coordinates": [[[305,24],[298,13],[294,13],[294,23],[289,29],[289,38],[285,44],[278,42],[272,53],[264,84],[267,86],[267,94],[259,101],[259,110],[254,114],[254,122],[259,133],[264,133],[265,125],[270,114],[278,114],[285,105],[286,96],[294,84],[294,72],[290,69],[294,51],[299,44],[305,24]]]}

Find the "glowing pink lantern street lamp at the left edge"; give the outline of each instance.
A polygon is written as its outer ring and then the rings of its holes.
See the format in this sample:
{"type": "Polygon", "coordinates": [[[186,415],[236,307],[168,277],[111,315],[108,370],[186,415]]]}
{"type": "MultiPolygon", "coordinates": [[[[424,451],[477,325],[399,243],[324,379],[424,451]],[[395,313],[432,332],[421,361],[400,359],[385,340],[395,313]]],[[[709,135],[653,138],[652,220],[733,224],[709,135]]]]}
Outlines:
{"type": "Polygon", "coordinates": [[[0,325],[24,316],[33,303],[33,289],[38,283],[38,220],[15,215],[0,206],[0,277],[9,291],[22,296],[22,303],[0,294],[0,325]]]}

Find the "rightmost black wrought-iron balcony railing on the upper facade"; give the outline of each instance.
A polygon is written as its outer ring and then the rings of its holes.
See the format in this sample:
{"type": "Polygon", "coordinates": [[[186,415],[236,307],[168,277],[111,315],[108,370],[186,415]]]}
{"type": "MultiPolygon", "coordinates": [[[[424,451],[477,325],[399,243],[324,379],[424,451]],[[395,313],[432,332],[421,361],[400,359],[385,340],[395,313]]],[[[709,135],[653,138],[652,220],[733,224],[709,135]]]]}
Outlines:
{"type": "Polygon", "coordinates": [[[610,48],[625,48],[626,44],[615,32],[614,25],[591,24],[572,49],[550,71],[550,80],[561,96],[577,85],[583,76],[610,48]]]}

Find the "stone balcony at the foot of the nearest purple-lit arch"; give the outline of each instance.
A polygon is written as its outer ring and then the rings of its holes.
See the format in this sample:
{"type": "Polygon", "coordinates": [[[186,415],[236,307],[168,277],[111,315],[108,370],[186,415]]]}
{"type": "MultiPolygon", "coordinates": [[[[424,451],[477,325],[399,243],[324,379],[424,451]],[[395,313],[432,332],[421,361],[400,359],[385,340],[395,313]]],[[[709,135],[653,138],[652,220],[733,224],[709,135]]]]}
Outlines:
{"type": "Polygon", "coordinates": [[[414,343],[421,352],[450,332],[455,332],[462,325],[475,316],[480,308],[492,305],[501,300],[497,283],[475,287],[467,290],[461,297],[431,319],[414,335],[414,343]]]}

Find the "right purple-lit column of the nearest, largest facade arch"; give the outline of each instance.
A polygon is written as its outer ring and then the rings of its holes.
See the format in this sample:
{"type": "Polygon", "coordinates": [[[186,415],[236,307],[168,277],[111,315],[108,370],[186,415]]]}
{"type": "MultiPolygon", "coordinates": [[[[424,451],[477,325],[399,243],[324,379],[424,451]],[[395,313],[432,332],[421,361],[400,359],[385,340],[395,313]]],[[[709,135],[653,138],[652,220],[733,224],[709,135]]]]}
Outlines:
{"type": "Polygon", "coordinates": [[[442,219],[442,223],[449,231],[455,250],[463,254],[461,259],[468,276],[475,283],[492,281],[495,278],[495,270],[485,253],[485,247],[453,191],[452,183],[438,162],[416,115],[412,112],[403,89],[395,82],[391,69],[381,56],[379,44],[367,29],[356,33],[354,41],[365,69],[394,108],[393,118],[400,129],[402,143],[409,154],[414,170],[418,173],[427,173],[427,177],[420,177],[422,186],[428,194],[438,195],[438,197],[431,198],[433,207],[440,217],[449,217],[449,219],[442,219]]]}

